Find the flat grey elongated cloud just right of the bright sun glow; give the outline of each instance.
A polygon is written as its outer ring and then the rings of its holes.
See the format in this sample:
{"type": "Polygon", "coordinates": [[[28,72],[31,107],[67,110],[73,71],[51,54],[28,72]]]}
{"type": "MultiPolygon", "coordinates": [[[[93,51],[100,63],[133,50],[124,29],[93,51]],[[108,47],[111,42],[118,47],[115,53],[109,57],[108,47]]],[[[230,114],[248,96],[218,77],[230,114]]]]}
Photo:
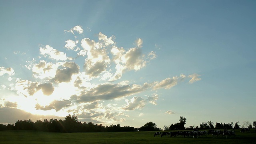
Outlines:
{"type": "Polygon", "coordinates": [[[58,112],[62,108],[70,106],[70,104],[71,104],[70,100],[54,100],[47,106],[40,106],[39,104],[36,104],[35,108],[36,108],[36,110],[54,109],[54,110],[56,110],[56,112],[58,112]]]}

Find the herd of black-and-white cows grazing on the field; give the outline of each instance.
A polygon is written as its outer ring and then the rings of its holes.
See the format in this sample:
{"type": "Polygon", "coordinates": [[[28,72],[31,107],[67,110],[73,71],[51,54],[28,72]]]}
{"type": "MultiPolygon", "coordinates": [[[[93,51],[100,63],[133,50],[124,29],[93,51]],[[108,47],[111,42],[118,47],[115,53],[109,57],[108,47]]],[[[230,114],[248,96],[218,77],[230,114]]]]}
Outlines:
{"type": "Polygon", "coordinates": [[[212,135],[212,136],[236,136],[234,130],[204,130],[204,131],[175,131],[175,132],[155,132],[155,136],[170,136],[170,137],[192,137],[192,138],[198,138],[199,136],[206,136],[206,135],[212,135]]]}

